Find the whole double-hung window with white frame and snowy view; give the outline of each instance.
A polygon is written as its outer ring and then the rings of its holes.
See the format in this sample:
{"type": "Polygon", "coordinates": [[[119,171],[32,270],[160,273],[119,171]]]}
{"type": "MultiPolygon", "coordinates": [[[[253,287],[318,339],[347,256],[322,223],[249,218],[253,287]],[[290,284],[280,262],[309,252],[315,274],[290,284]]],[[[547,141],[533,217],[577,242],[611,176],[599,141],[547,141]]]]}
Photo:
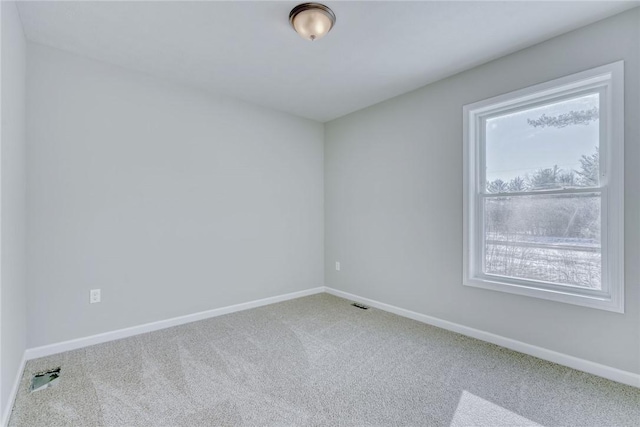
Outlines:
{"type": "Polygon", "coordinates": [[[464,107],[464,284],[624,312],[623,62],[464,107]]]}

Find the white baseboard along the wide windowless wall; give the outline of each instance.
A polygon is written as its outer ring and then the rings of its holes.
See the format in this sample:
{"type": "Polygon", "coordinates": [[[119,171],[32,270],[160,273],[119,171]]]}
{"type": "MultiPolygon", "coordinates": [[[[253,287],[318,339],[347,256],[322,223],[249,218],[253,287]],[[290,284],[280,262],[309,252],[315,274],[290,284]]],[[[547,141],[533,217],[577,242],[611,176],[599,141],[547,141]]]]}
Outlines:
{"type": "Polygon", "coordinates": [[[27,349],[26,359],[37,359],[39,357],[50,356],[52,354],[62,353],[65,351],[76,350],[78,348],[88,347],[90,345],[101,344],[108,341],[114,341],[121,338],[127,338],[134,335],[144,334],[146,332],[157,331],[160,329],[171,328],[173,326],[184,325],[185,323],[197,322],[211,317],[222,316],[223,314],[234,313],[237,311],[248,310],[250,308],[261,307],[263,305],[274,304],[277,302],[287,301],[295,298],[305,297],[308,295],[319,294],[324,292],[324,286],[307,289],[304,291],[292,292],[289,294],[278,295],[275,297],[264,298],[255,301],[249,301],[242,304],[230,305],[227,307],[215,308],[213,310],[201,311],[199,313],[187,314],[186,316],[174,317],[172,319],[160,320],[157,322],[145,323],[130,328],[118,329],[116,331],[105,332],[102,334],[91,335],[88,337],[77,338],[69,341],[63,341],[55,344],[44,345],[27,349]]]}

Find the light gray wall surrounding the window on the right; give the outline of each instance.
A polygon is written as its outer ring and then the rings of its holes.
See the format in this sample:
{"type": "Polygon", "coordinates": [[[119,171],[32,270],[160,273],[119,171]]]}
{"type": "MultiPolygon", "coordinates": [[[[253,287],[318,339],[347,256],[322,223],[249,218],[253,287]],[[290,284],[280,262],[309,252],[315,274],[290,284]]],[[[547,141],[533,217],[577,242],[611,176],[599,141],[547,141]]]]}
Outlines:
{"type": "Polygon", "coordinates": [[[635,9],[327,123],[326,284],[640,372],[639,22],[635,9]],[[626,313],[463,287],[462,106],[620,59],[626,313]]]}

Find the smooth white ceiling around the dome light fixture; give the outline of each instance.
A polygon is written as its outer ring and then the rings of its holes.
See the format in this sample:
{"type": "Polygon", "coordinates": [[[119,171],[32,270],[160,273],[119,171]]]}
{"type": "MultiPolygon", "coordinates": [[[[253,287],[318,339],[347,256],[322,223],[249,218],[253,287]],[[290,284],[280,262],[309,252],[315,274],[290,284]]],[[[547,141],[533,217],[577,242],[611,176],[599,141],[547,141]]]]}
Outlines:
{"type": "Polygon", "coordinates": [[[18,7],[33,42],[324,122],[640,3],[326,1],[336,26],[309,42],[302,2],[18,7]]]}

